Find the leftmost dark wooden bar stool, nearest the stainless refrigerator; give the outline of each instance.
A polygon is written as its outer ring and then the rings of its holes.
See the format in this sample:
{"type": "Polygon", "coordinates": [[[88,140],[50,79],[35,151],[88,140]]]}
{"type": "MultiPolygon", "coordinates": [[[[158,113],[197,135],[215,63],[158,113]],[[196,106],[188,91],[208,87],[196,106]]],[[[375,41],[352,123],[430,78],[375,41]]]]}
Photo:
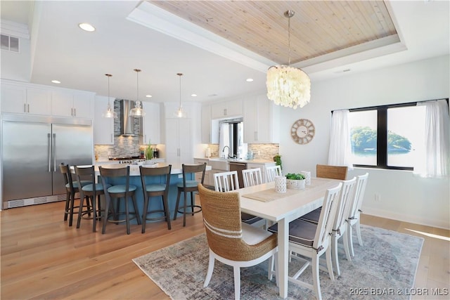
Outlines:
{"type": "MultiPolygon", "coordinates": [[[[79,193],[79,185],[89,184],[89,181],[72,181],[72,173],[70,171],[69,164],[60,164],[59,169],[64,177],[65,184],[65,209],[64,209],[64,221],[68,221],[69,226],[72,226],[73,214],[78,214],[79,206],[75,206],[75,193],[79,193]]],[[[86,209],[90,209],[89,199],[86,200],[86,209]]]]}

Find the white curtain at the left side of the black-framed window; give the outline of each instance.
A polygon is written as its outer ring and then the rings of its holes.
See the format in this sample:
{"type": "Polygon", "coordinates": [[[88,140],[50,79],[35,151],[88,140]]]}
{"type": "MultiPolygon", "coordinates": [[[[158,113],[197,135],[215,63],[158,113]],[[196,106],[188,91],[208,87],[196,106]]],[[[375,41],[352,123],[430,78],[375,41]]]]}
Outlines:
{"type": "Polygon", "coordinates": [[[353,169],[350,140],[349,110],[335,110],[331,117],[328,164],[353,169]]]}

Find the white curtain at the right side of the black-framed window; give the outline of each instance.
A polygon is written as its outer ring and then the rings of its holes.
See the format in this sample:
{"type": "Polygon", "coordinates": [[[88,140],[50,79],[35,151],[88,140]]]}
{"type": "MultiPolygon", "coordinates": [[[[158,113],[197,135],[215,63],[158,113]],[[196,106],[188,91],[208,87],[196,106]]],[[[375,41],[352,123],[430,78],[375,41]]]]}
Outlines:
{"type": "Polygon", "coordinates": [[[417,105],[425,106],[425,151],[414,165],[414,174],[423,177],[449,176],[450,122],[446,100],[433,100],[417,105]]]}

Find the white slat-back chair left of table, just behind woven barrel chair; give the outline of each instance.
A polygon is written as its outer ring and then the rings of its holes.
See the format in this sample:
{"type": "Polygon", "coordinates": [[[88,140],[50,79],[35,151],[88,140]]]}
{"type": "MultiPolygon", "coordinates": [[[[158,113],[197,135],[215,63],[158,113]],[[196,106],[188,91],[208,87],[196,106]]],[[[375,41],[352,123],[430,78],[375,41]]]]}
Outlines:
{"type": "MultiPolygon", "coordinates": [[[[259,169],[258,169],[259,170],[259,169]]],[[[229,192],[239,189],[238,171],[227,171],[214,174],[214,190],[216,192],[229,192]]],[[[240,220],[252,226],[262,226],[264,219],[245,212],[240,213],[240,220]],[[260,224],[261,223],[261,224],[260,224]]]]}

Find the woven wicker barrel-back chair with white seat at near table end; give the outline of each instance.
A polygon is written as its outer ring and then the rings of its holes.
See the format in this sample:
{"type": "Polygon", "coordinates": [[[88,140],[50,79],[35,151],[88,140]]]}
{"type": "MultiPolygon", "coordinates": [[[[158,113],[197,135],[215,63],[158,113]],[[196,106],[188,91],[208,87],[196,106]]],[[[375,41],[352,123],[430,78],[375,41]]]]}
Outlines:
{"type": "MultiPolygon", "coordinates": [[[[209,247],[209,263],[203,286],[210,284],[214,261],[217,259],[233,267],[234,298],[240,299],[240,268],[256,266],[267,259],[271,266],[271,259],[278,251],[277,237],[240,221],[238,193],[221,193],[201,184],[198,185],[198,193],[209,247]]],[[[271,273],[268,273],[268,277],[271,277],[271,273]]]]}

